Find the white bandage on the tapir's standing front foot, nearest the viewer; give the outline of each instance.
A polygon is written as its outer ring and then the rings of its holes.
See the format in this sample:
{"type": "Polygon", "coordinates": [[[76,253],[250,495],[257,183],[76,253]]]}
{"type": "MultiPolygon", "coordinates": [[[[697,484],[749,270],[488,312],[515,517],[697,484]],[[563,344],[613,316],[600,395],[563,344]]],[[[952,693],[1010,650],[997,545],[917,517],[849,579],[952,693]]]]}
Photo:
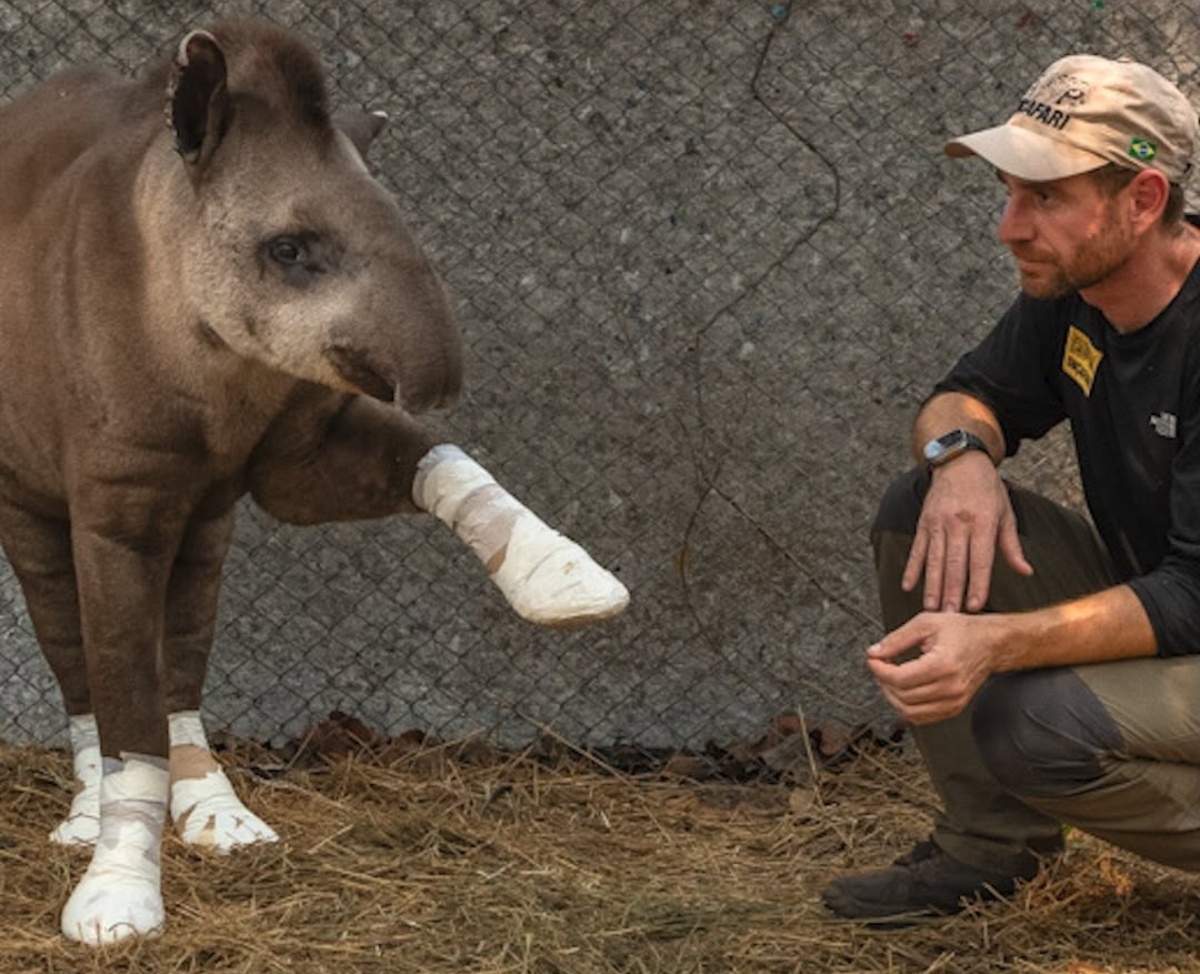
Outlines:
{"type": "Polygon", "coordinates": [[[62,908],[62,933],[91,946],[162,930],[160,847],[167,818],[167,762],[104,758],[100,835],[88,871],[62,908]]]}

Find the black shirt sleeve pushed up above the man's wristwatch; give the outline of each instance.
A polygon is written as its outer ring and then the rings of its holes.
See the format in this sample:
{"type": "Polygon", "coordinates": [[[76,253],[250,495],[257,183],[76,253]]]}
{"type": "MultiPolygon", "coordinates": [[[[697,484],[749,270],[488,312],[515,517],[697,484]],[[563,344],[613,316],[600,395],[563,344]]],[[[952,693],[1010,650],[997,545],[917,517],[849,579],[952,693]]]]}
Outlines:
{"type": "Polygon", "coordinates": [[[1057,374],[1061,367],[1067,301],[1021,295],[973,349],[934,386],[979,399],[996,415],[1004,450],[1044,437],[1066,419],[1057,374]]]}

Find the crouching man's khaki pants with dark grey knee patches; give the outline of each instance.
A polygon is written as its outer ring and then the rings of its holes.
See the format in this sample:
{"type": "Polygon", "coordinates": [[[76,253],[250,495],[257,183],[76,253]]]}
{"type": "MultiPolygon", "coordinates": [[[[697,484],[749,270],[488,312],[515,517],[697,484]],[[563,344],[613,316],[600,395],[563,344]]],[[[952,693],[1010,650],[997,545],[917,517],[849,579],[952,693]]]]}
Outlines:
{"type": "MultiPolygon", "coordinates": [[[[920,612],[905,593],[929,477],[892,485],[871,541],[883,623],[920,612]]],[[[1091,524],[1009,488],[1022,577],[997,558],[985,611],[1039,608],[1120,579],[1091,524]]],[[[1148,859],[1200,871],[1200,655],[1025,671],[991,678],[948,721],[912,728],[944,811],[934,838],[979,868],[1027,873],[1061,848],[1061,823],[1148,859]]]]}

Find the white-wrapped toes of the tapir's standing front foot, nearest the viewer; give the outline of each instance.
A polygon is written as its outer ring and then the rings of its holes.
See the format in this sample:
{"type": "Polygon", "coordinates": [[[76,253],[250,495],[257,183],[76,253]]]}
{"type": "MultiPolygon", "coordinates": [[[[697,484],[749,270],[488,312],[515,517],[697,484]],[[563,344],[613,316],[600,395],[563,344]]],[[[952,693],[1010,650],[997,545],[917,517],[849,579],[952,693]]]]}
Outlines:
{"type": "Polygon", "coordinates": [[[158,883],[125,871],[89,870],[62,908],[62,934],[89,946],[162,933],[158,883]]]}

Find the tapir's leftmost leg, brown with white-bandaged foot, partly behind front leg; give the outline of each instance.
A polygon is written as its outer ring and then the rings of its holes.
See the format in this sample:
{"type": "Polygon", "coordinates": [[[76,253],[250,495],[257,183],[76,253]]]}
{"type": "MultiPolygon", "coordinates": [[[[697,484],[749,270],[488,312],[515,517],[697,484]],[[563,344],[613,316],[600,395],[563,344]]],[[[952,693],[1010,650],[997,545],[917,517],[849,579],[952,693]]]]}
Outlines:
{"type": "Polygon", "coordinates": [[[50,840],[91,846],[100,834],[100,734],[88,695],[71,525],[0,503],[0,537],[25,595],[37,642],[62,691],[70,722],[76,794],[50,840]]]}

